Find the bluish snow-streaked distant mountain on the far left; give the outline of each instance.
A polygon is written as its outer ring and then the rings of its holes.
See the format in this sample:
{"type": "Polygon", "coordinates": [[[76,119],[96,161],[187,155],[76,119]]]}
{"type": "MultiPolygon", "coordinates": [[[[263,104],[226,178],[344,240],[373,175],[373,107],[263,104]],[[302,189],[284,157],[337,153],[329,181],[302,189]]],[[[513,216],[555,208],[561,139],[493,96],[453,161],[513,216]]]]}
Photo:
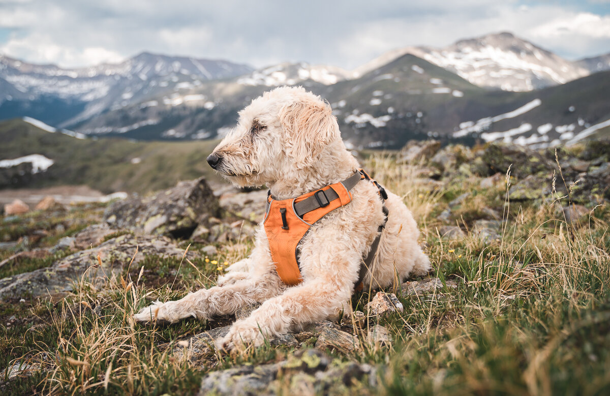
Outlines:
{"type": "Polygon", "coordinates": [[[0,56],[0,119],[27,115],[58,126],[73,126],[149,96],[251,70],[224,60],[146,52],[121,63],[79,69],[33,65],[0,56]]]}

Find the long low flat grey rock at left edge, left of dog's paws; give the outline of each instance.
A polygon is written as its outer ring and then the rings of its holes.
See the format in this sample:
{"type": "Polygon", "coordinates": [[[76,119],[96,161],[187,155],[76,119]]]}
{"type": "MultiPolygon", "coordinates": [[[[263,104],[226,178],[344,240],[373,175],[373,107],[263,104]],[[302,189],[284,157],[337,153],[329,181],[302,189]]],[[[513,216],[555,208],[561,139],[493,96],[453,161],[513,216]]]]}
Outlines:
{"type": "MultiPolygon", "coordinates": [[[[87,271],[85,279],[93,283],[103,281],[113,272],[120,272],[129,264],[138,247],[132,267],[147,255],[182,257],[184,250],[175,247],[170,239],[160,236],[124,235],[110,239],[96,248],[91,248],[63,257],[51,266],[26,273],[20,273],[10,278],[0,279],[0,301],[7,298],[29,295],[31,297],[51,297],[65,295],[71,291],[72,281],[81,279],[87,271]],[[98,259],[103,268],[98,268],[98,259]]],[[[187,253],[192,257],[192,253],[187,253]]]]}

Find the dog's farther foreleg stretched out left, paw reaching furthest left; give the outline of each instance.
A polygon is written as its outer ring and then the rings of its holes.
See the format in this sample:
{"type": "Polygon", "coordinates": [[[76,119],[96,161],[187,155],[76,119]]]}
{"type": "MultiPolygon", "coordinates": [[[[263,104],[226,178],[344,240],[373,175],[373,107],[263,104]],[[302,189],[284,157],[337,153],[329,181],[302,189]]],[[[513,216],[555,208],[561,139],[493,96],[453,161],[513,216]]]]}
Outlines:
{"type": "Polygon", "coordinates": [[[234,314],[242,306],[267,300],[282,291],[274,273],[243,279],[227,286],[214,286],[190,293],[178,301],[156,303],[134,315],[137,322],[178,322],[188,317],[204,320],[214,315],[234,314]]]}

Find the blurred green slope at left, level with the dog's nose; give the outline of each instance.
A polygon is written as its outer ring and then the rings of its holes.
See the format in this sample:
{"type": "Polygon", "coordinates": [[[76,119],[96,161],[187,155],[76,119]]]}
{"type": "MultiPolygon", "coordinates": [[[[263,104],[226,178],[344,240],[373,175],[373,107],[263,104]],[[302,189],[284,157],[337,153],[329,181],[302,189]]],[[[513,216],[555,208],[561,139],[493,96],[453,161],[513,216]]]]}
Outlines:
{"type": "MultiPolygon", "coordinates": [[[[170,187],[180,179],[212,176],[206,157],[216,144],[76,139],[22,120],[0,123],[0,142],[0,160],[41,154],[54,161],[48,170],[34,174],[25,168],[0,188],[87,184],[106,193],[143,193],[170,187]]],[[[0,168],[0,173],[9,170],[0,168]]]]}

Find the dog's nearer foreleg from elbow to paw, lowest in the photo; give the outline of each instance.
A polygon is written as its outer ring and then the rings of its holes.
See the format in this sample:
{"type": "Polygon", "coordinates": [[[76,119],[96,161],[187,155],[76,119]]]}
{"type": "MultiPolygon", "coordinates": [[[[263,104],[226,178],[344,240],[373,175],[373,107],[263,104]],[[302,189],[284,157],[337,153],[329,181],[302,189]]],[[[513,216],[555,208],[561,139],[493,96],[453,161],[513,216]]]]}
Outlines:
{"type": "Polygon", "coordinates": [[[217,346],[227,350],[243,348],[245,344],[259,346],[265,338],[288,333],[291,329],[336,315],[340,309],[347,309],[345,304],[357,278],[359,261],[350,264],[337,259],[328,261],[328,265],[343,268],[343,272],[334,272],[334,275],[332,271],[323,273],[270,298],[248,318],[235,322],[217,346]]]}

